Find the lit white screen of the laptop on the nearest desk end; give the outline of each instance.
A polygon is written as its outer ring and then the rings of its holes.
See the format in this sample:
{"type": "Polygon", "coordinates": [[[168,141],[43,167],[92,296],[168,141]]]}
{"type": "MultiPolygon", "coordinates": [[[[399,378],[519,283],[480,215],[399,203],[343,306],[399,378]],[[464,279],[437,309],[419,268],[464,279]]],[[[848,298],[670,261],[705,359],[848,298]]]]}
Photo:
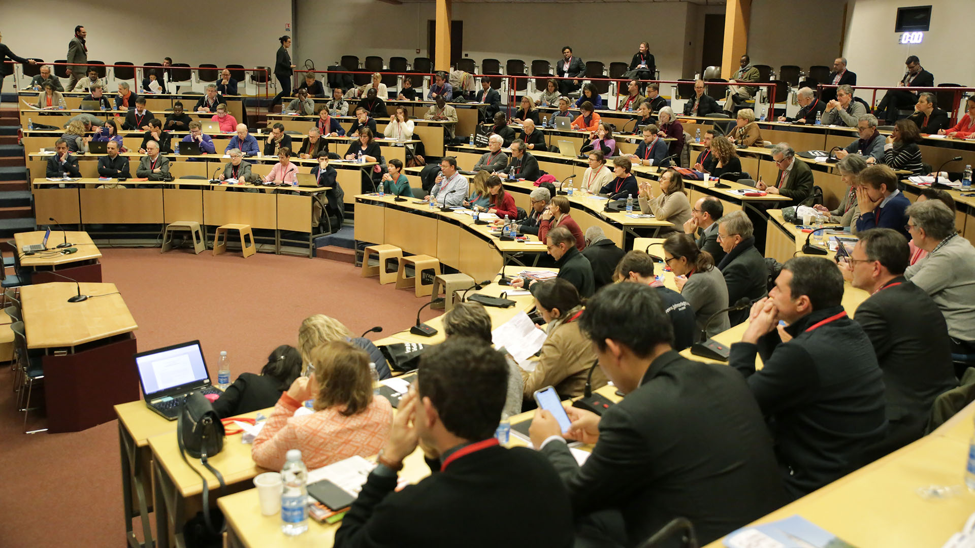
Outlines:
{"type": "Polygon", "coordinates": [[[199,384],[210,378],[199,340],[140,352],[136,354],[136,366],[146,397],[184,384],[199,384]]]}

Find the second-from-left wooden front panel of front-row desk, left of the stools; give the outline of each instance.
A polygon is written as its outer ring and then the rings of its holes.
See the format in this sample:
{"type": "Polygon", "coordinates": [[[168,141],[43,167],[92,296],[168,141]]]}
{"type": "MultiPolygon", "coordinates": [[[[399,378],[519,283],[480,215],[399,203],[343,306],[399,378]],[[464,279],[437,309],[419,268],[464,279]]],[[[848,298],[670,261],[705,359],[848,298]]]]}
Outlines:
{"type": "Polygon", "coordinates": [[[81,188],[78,193],[86,224],[163,222],[162,188],[81,188]]]}

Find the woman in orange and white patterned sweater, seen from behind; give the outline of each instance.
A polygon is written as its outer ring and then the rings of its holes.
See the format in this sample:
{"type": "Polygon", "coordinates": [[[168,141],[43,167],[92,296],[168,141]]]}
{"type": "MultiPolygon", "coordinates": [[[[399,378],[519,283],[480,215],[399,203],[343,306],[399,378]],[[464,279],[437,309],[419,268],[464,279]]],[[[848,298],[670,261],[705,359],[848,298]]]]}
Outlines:
{"type": "Polygon", "coordinates": [[[312,470],[373,455],[389,437],[393,408],[372,395],[369,354],[341,340],[315,347],[309,358],[309,376],[296,378],[281,395],[254,440],[251,456],[258,466],[278,470],[285,453],[296,449],[312,470]],[[293,416],[308,399],[315,412],[293,416]]]}

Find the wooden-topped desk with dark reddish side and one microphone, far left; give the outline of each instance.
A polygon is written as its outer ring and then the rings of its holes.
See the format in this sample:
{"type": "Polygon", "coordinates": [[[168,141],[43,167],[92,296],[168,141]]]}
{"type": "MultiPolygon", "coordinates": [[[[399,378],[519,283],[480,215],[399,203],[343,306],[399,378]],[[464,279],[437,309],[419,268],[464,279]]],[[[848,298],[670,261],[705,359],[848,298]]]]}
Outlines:
{"type": "Polygon", "coordinates": [[[77,432],[115,418],[138,398],[136,320],[114,284],[52,282],[20,288],[27,348],[43,349],[49,432],[77,432]]]}

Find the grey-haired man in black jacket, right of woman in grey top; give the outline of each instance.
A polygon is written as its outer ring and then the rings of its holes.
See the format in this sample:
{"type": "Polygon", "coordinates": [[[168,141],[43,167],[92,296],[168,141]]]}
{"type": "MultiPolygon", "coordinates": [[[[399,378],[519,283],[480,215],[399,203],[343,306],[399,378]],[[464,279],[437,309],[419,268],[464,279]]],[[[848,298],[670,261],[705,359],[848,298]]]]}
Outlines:
{"type": "MultiPolygon", "coordinates": [[[[765,296],[768,287],[768,267],[765,258],[755,249],[755,228],[745,212],[731,212],[718,219],[718,243],[724,258],[718,269],[728,287],[728,302],[738,302],[743,296],[755,301],[765,296]]],[[[731,326],[748,319],[748,310],[728,312],[731,326]]]]}

